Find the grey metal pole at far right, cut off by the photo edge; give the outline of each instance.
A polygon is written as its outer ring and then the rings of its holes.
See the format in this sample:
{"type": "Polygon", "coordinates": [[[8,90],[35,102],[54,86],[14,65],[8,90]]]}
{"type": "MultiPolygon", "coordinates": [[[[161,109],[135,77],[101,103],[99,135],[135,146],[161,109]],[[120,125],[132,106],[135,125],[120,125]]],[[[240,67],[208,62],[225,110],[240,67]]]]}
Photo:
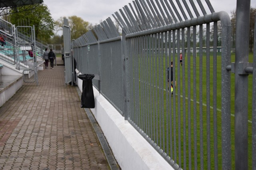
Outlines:
{"type": "Polygon", "coordinates": [[[256,17],[254,21],[253,48],[253,77],[252,77],[252,170],[256,170],[256,17]]]}

